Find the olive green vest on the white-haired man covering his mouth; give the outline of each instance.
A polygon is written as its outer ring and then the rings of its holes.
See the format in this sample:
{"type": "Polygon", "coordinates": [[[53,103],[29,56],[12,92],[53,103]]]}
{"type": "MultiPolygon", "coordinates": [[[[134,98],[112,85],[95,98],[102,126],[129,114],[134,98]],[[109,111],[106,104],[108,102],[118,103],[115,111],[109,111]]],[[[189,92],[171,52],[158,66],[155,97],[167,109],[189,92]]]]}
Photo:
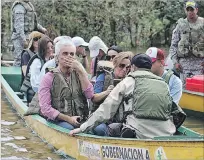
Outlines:
{"type": "Polygon", "coordinates": [[[86,119],[89,114],[87,99],[76,72],[72,72],[68,80],[58,69],[55,68],[52,72],[54,74],[51,88],[52,106],[63,114],[86,119]]]}

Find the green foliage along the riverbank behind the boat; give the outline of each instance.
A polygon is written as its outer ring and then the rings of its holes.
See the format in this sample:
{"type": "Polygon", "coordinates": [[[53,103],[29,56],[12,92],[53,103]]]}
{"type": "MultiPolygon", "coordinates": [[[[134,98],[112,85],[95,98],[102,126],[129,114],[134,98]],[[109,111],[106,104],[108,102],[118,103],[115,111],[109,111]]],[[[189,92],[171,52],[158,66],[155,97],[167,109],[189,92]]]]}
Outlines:
{"type": "MultiPolygon", "coordinates": [[[[2,4],[2,31],[10,30],[10,7],[2,4]]],[[[108,45],[130,48],[169,44],[176,21],[185,17],[184,0],[32,0],[39,23],[59,35],[95,35],[108,45]]],[[[198,0],[200,15],[204,3],[198,0]]]]}

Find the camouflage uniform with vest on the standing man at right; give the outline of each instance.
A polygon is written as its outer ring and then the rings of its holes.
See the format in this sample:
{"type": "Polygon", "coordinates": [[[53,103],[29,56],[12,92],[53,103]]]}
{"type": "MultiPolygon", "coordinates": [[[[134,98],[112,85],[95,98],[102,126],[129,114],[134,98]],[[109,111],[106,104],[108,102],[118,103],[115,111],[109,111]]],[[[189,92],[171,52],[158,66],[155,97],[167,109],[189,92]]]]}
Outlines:
{"type": "MultiPolygon", "coordinates": [[[[181,19],[179,19],[181,21],[181,19]]],[[[198,17],[198,20],[195,23],[189,23],[187,19],[182,19],[184,23],[186,23],[183,26],[179,25],[179,20],[176,28],[173,31],[172,35],[172,41],[171,41],[171,47],[169,50],[169,53],[171,55],[172,61],[174,64],[179,63],[182,67],[182,72],[180,73],[180,78],[185,86],[185,80],[187,77],[191,77],[193,75],[201,75],[203,74],[203,66],[204,63],[204,50],[201,46],[201,49],[197,53],[192,53],[194,49],[196,49],[196,45],[198,43],[190,43],[189,41],[198,42],[201,41],[202,45],[204,44],[204,19],[201,17],[198,17]],[[199,22],[198,22],[199,21],[199,22]],[[187,29],[186,29],[187,28],[187,29]],[[184,30],[189,31],[184,31],[184,30]],[[200,37],[192,37],[189,32],[193,32],[195,30],[198,30],[200,32],[200,37]],[[182,41],[182,36],[186,36],[183,39],[185,39],[185,42],[182,41]],[[189,36],[190,35],[190,36],[189,36]],[[202,40],[201,40],[202,39],[202,40]],[[182,46],[183,43],[183,46],[182,46]],[[182,49],[180,49],[180,48],[182,49]],[[189,48],[191,48],[191,52],[189,52],[189,48]],[[180,50],[179,50],[180,49],[180,50]],[[183,51],[181,53],[181,51],[183,51]],[[201,55],[199,54],[201,53],[201,55]],[[197,54],[197,55],[196,55],[197,54]]],[[[199,44],[201,44],[199,43],[199,44]]]]}

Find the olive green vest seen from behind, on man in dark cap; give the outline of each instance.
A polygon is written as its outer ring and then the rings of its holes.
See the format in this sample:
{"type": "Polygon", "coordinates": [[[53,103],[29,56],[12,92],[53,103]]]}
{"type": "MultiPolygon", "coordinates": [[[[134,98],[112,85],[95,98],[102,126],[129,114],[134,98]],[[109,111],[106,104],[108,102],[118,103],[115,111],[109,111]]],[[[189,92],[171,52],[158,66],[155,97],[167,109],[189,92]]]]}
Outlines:
{"type": "Polygon", "coordinates": [[[172,110],[172,98],[166,82],[142,69],[130,73],[129,76],[135,79],[133,115],[142,119],[168,120],[172,110]]]}

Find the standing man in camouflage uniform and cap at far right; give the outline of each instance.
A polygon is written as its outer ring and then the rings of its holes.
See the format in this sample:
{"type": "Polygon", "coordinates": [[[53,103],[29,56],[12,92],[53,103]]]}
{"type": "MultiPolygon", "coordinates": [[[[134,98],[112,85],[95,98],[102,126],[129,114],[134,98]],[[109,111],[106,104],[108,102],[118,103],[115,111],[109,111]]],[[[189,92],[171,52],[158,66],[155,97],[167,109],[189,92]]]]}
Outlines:
{"type": "Polygon", "coordinates": [[[177,21],[169,51],[184,86],[187,77],[203,74],[204,65],[204,18],[197,15],[193,0],[186,2],[185,13],[187,17],[177,21]]]}

